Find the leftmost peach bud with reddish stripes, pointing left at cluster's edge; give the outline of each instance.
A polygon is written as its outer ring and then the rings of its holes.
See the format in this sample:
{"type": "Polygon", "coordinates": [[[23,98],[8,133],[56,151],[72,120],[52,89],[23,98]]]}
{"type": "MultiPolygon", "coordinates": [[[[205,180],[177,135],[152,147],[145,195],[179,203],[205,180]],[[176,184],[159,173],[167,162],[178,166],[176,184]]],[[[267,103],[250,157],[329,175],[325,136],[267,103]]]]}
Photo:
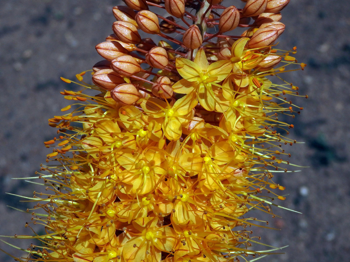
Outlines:
{"type": "Polygon", "coordinates": [[[99,87],[112,90],[121,83],[125,83],[124,79],[112,69],[102,69],[92,76],[92,82],[99,87]]]}

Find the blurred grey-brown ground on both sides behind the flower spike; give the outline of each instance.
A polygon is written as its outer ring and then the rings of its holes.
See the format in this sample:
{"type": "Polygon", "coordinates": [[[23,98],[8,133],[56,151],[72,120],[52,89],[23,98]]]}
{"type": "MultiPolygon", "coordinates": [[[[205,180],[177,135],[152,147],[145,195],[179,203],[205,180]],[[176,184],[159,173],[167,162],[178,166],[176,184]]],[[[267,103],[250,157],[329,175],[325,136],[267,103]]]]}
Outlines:
{"type": "MultiPolygon", "coordinates": [[[[35,203],[19,202],[5,192],[32,196],[36,188],[13,177],[34,176],[51,152],[43,141],[57,136],[47,119],[69,104],[59,91],[78,90],[59,79],[75,79],[102,58],[94,46],[112,34],[112,7],[119,0],[2,0],[0,8],[0,234],[31,234],[25,228],[35,203]]],[[[244,6],[240,0],[226,6],[244,6]]],[[[297,46],[304,71],[282,75],[309,99],[293,98],[304,109],[290,137],[303,144],[287,148],[290,162],[309,168],[280,173],[287,194],[283,204],[302,212],[274,208],[278,230],[255,230],[262,241],[286,246],[282,255],[260,261],[349,261],[350,255],[350,3],[346,0],[291,0],[282,10],[286,30],[278,48],[297,46]]],[[[89,76],[85,80],[89,81],[89,76]]],[[[296,169],[295,169],[296,170],[296,169]]],[[[40,191],[42,189],[39,189],[40,191]]],[[[8,239],[5,239],[8,240],[8,239]]],[[[10,240],[9,240],[10,241],[10,240]]],[[[14,241],[12,241],[13,243],[14,241]]],[[[15,241],[27,248],[30,241],[15,241]]],[[[0,248],[11,250],[0,243],[0,248]]],[[[258,250],[265,249],[260,246],[258,250]]],[[[18,254],[18,253],[17,253],[18,254]]],[[[0,261],[13,261],[0,253],[0,261]]]]}

